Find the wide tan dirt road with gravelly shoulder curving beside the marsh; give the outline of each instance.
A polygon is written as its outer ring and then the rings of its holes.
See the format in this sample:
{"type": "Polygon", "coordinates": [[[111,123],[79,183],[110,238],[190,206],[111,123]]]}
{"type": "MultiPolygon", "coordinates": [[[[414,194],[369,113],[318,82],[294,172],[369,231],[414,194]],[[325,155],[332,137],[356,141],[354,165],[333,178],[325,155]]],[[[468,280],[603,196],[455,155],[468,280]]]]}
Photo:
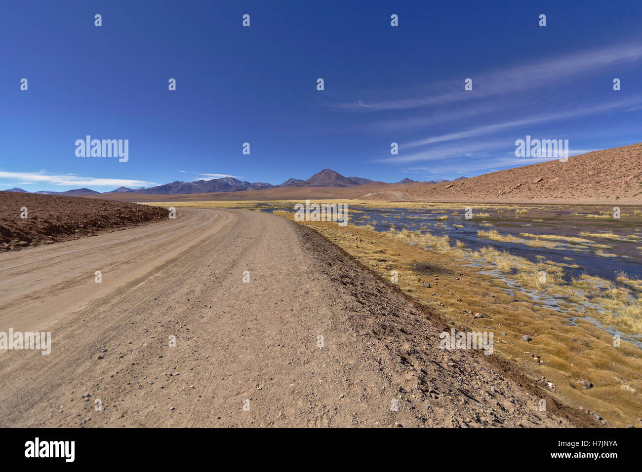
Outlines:
{"type": "Polygon", "coordinates": [[[179,209],[3,253],[0,292],[0,332],[51,332],[49,355],[0,351],[0,426],[572,425],[275,215],[179,209]]]}

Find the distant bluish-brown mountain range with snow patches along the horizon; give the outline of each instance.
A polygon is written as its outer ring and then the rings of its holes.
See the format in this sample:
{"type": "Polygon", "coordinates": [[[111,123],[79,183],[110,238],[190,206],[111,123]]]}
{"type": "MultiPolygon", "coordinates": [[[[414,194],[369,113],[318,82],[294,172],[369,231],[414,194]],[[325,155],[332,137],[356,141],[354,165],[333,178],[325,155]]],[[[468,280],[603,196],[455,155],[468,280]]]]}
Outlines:
{"type": "MultiPolygon", "coordinates": [[[[465,177],[459,177],[455,180],[462,180],[465,177]]],[[[424,183],[440,183],[447,182],[449,180],[438,180],[428,181],[424,183]]],[[[362,177],[344,177],[341,174],[333,171],[332,169],[324,169],[321,172],[314,174],[307,180],[300,180],[295,178],[290,178],[281,185],[272,185],[265,182],[255,182],[251,183],[248,181],[241,181],[233,177],[223,177],[220,179],[211,179],[211,180],[196,180],[193,182],[183,182],[180,180],[173,181],[171,183],[165,183],[164,185],[157,185],[156,187],[139,187],[137,189],[130,189],[128,187],[118,187],[115,190],[110,190],[110,192],[103,192],[105,194],[109,193],[137,193],[137,194],[150,194],[150,195],[184,195],[184,194],[205,194],[213,192],[240,192],[243,190],[264,190],[271,189],[273,187],[353,187],[354,185],[364,185],[366,183],[372,183],[370,179],[362,177]]],[[[404,183],[413,183],[415,180],[404,178],[396,184],[403,185],[404,183]]],[[[27,190],[19,189],[14,187],[13,189],[4,190],[5,192],[27,192],[27,190]]],[[[46,195],[66,195],[66,196],[91,196],[100,194],[101,192],[96,192],[96,190],[91,189],[74,189],[67,190],[66,192],[47,192],[40,191],[35,192],[36,194],[46,194],[46,195]]]]}

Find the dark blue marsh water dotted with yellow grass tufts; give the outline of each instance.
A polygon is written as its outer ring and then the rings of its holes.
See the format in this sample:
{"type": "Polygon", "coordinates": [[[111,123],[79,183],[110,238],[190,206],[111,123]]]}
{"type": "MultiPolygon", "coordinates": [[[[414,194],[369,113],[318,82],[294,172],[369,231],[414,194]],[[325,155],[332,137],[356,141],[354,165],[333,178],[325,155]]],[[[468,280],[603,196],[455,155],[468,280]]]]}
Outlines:
{"type": "MultiPolygon", "coordinates": [[[[586,216],[600,215],[600,211],[605,210],[603,207],[528,207],[528,213],[517,213],[507,208],[480,206],[472,207],[473,217],[467,219],[461,207],[422,209],[349,205],[349,208],[350,223],[356,226],[371,225],[378,232],[394,228],[395,231],[406,229],[435,236],[447,235],[451,246],[460,240],[469,249],[492,246],[531,262],[550,260],[564,267],[567,278],[586,273],[615,280],[620,272],[626,273],[629,278],[642,278],[642,217],[634,215],[634,209],[623,208],[620,219],[616,219],[586,216]],[[444,216],[447,220],[438,220],[438,217],[444,216]],[[500,236],[512,235],[519,240],[488,239],[480,237],[479,231],[496,231],[500,236]],[[520,236],[520,233],[529,233],[535,238],[520,236]],[[550,235],[589,242],[536,238],[550,235]],[[550,243],[551,247],[528,244],[534,242],[550,243]]],[[[515,208],[519,210],[526,207],[515,208]]],[[[268,212],[276,209],[293,211],[292,208],[262,208],[268,212]]]]}

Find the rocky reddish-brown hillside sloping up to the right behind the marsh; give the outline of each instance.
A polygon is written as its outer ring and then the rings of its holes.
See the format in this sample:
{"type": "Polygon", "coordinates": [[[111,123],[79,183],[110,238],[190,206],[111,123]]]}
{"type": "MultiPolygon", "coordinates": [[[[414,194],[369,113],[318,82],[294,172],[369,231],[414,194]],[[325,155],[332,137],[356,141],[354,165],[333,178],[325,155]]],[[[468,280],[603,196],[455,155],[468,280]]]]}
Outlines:
{"type": "Polygon", "coordinates": [[[642,143],[399,190],[410,199],[430,201],[637,203],[642,201],[642,143]]]}

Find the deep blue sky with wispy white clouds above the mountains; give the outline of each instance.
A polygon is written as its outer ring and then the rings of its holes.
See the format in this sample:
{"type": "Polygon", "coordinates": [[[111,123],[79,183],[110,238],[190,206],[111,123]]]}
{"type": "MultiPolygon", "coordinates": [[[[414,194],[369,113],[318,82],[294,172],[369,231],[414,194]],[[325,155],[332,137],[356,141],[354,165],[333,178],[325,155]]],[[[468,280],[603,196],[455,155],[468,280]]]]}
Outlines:
{"type": "Polygon", "coordinates": [[[642,141],[639,0],[3,2],[0,63],[0,189],[452,179],[550,160],[526,135],[642,141]]]}

